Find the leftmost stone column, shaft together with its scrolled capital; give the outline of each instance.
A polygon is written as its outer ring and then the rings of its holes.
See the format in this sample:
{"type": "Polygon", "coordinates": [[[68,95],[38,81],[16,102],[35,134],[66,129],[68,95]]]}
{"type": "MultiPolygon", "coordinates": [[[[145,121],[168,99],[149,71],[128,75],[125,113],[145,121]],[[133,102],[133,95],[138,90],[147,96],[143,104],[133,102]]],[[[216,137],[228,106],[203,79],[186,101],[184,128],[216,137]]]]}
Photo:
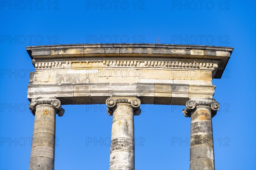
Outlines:
{"type": "Polygon", "coordinates": [[[29,170],[53,170],[55,154],[55,113],[64,114],[56,98],[35,98],[29,104],[35,115],[29,170]]]}

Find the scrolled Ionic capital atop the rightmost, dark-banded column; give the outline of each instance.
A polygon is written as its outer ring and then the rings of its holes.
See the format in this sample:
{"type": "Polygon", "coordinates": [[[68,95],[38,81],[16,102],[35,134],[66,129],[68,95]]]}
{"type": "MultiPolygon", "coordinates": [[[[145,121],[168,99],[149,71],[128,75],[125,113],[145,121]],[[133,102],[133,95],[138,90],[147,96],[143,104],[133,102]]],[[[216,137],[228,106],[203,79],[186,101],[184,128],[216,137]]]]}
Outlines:
{"type": "Polygon", "coordinates": [[[186,117],[191,117],[191,112],[198,106],[208,107],[212,112],[212,118],[216,115],[220,104],[212,98],[191,98],[186,102],[186,107],[183,109],[183,114],[186,117]]]}

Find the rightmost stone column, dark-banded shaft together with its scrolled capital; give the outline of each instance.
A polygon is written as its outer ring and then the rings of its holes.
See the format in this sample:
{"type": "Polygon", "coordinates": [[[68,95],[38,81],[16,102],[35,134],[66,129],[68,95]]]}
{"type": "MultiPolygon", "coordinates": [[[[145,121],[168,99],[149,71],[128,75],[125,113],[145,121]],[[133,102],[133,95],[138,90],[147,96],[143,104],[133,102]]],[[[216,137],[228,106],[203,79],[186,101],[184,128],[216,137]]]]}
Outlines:
{"type": "Polygon", "coordinates": [[[212,117],[219,103],[211,98],[191,98],[183,114],[191,117],[190,170],[214,170],[212,117]]]}

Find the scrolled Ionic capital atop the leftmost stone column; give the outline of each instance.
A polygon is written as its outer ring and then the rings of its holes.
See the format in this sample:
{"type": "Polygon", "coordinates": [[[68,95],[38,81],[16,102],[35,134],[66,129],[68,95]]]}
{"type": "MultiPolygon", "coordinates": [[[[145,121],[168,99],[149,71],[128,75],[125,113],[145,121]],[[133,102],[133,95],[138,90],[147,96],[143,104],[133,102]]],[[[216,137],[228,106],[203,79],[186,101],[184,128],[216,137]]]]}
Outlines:
{"type": "Polygon", "coordinates": [[[31,110],[32,114],[35,115],[36,106],[37,105],[51,105],[53,109],[55,110],[56,114],[58,116],[63,116],[64,109],[61,108],[61,101],[57,98],[33,98],[32,101],[29,104],[29,109],[31,110]]]}

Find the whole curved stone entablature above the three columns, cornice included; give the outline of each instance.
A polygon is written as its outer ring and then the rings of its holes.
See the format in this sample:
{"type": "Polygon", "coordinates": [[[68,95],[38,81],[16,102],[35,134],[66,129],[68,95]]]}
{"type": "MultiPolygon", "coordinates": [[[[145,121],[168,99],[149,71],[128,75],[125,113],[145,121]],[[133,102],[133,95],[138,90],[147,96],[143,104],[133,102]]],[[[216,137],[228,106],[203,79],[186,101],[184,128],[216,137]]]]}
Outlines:
{"type": "Polygon", "coordinates": [[[113,96],[142,104],[184,105],[212,98],[233,48],[169,44],[29,46],[35,72],[28,98],[57,97],[62,104],[105,104],[113,96]]]}

